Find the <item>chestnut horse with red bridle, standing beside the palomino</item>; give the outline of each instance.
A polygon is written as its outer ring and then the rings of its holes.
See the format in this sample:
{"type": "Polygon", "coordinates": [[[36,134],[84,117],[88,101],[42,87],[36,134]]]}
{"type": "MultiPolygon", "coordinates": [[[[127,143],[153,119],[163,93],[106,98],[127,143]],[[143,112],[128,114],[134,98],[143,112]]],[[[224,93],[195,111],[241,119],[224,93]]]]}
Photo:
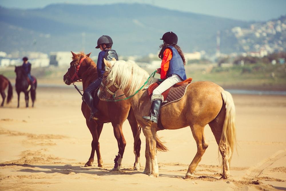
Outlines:
{"type": "MultiPolygon", "coordinates": [[[[82,80],[83,89],[85,90],[89,84],[91,84],[94,80],[98,78],[96,64],[91,58],[89,58],[90,54],[85,55],[82,52],[80,54],[75,54],[72,52],[72,55],[73,61],[71,62],[71,66],[68,69],[67,73],[63,76],[63,81],[65,82],[65,84],[70,85],[71,83],[82,80]]],[[[123,94],[123,92],[121,92],[121,94],[123,94]]],[[[100,137],[103,124],[111,122],[114,130],[114,136],[116,137],[119,149],[118,156],[116,156],[116,158],[114,159],[115,165],[113,170],[120,170],[121,160],[126,145],[126,141],[122,132],[122,124],[126,119],[128,119],[134,136],[134,169],[139,170],[141,148],[141,140],[139,135],[141,129],[139,129],[138,127],[134,112],[130,107],[130,103],[128,101],[109,103],[99,101],[97,109],[100,111],[99,118],[97,120],[89,120],[90,109],[85,102],[82,102],[82,113],[86,118],[86,125],[88,126],[88,129],[92,134],[92,151],[90,154],[90,158],[85,166],[92,166],[92,163],[94,161],[94,151],[96,150],[98,166],[103,167],[98,139],[100,137]]]]}

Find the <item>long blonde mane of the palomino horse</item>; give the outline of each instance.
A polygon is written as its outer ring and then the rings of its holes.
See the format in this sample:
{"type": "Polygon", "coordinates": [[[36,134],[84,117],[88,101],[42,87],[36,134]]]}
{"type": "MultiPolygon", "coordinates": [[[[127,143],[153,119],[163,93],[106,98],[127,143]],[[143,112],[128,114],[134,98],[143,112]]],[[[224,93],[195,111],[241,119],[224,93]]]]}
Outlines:
{"type": "MultiPolygon", "coordinates": [[[[127,96],[134,94],[147,81],[150,76],[148,72],[140,68],[134,61],[124,60],[111,61],[111,67],[106,67],[108,72],[107,80],[114,83],[115,79],[120,81],[119,88],[124,90],[130,86],[127,96]]],[[[156,78],[150,78],[147,85],[157,81],[156,78]]]]}

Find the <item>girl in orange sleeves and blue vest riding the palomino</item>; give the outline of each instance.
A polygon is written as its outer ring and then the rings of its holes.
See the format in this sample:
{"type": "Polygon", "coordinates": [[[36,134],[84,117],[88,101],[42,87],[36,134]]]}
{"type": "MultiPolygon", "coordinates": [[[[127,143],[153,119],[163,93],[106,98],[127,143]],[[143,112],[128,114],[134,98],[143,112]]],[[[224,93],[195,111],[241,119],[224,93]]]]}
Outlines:
{"type": "Polygon", "coordinates": [[[157,88],[154,89],[151,97],[151,111],[149,116],[143,116],[143,119],[158,123],[158,117],[164,97],[162,93],[178,82],[186,80],[185,65],[186,61],[181,48],[177,45],[178,37],[175,33],[166,32],[160,40],[164,44],[160,45],[159,58],[162,59],[161,68],[157,73],[164,80],[157,88]]]}

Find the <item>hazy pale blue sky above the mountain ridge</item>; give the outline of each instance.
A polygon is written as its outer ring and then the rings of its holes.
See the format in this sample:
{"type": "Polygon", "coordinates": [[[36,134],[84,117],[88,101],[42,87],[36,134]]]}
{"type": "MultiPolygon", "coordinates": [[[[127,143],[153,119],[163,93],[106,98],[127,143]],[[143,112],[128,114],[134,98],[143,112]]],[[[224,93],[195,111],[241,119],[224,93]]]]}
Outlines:
{"type": "Polygon", "coordinates": [[[266,21],[286,14],[286,0],[0,0],[0,6],[20,9],[42,8],[52,3],[100,5],[146,3],[157,7],[245,21],[266,21]]]}

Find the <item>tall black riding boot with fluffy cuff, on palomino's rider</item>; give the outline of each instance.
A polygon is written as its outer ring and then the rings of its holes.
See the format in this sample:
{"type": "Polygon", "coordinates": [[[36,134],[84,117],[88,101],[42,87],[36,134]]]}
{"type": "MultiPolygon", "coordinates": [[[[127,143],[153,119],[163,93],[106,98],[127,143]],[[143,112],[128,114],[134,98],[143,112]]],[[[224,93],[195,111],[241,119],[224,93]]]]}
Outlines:
{"type": "Polygon", "coordinates": [[[160,114],[160,110],[161,110],[161,106],[162,106],[162,101],[164,100],[164,97],[159,94],[159,95],[152,95],[151,97],[151,101],[152,101],[152,105],[151,105],[151,111],[149,116],[143,116],[143,119],[147,119],[148,122],[154,122],[154,123],[158,123],[158,118],[159,118],[159,114],[160,114]]]}

